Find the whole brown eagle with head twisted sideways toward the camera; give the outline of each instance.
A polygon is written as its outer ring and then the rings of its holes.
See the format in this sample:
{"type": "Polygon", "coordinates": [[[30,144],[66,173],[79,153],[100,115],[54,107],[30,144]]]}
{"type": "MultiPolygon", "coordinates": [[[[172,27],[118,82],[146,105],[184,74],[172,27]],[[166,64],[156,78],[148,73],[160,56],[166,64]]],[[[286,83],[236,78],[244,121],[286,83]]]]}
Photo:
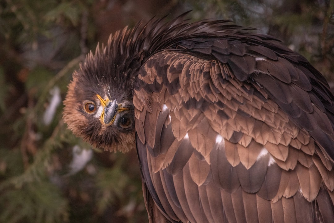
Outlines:
{"type": "Polygon", "coordinates": [[[150,222],[330,223],[333,103],[274,37],[181,16],[90,53],[64,120],[93,146],[137,147],[150,222]]]}

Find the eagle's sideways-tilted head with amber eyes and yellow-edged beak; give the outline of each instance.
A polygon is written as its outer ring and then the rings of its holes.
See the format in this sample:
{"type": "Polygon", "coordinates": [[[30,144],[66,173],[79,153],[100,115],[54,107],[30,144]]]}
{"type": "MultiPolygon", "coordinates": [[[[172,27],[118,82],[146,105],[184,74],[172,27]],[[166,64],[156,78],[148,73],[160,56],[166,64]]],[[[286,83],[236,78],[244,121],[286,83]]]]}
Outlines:
{"type": "Polygon", "coordinates": [[[73,72],[63,119],[74,135],[93,147],[127,152],[135,148],[132,83],[139,66],[133,56],[114,52],[114,41],[117,35],[103,50],[98,45],[73,72]]]}

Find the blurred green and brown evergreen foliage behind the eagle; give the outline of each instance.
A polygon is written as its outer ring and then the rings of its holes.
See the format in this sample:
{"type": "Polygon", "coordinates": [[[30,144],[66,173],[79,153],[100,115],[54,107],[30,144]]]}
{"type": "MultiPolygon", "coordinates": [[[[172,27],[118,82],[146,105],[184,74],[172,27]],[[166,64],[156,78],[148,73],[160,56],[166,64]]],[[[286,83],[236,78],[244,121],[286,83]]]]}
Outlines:
{"type": "Polygon", "coordinates": [[[1,223],[148,222],[136,151],[82,143],[62,100],[110,33],[188,10],[276,36],[333,85],[334,0],[0,0],[1,223]]]}

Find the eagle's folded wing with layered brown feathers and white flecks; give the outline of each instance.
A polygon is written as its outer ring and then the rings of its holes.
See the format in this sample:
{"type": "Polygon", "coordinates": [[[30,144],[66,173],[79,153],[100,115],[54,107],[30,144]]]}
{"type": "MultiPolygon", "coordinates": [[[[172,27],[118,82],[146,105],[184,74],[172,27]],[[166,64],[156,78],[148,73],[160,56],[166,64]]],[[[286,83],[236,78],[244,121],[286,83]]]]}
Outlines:
{"type": "Polygon", "coordinates": [[[171,222],[315,223],[333,213],[315,205],[333,206],[333,96],[303,57],[252,38],[182,40],[139,71],[143,178],[171,222]]]}

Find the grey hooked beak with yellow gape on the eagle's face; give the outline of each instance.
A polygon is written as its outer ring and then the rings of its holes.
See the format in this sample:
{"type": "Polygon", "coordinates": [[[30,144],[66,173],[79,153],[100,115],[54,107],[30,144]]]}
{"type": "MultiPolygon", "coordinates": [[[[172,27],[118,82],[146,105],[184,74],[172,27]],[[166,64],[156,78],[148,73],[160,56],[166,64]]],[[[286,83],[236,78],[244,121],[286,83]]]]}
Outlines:
{"type": "Polygon", "coordinates": [[[111,101],[109,98],[104,100],[99,94],[96,96],[100,99],[103,107],[100,121],[105,126],[112,125],[118,113],[128,110],[128,108],[123,108],[121,104],[116,103],[116,100],[111,101]]]}

